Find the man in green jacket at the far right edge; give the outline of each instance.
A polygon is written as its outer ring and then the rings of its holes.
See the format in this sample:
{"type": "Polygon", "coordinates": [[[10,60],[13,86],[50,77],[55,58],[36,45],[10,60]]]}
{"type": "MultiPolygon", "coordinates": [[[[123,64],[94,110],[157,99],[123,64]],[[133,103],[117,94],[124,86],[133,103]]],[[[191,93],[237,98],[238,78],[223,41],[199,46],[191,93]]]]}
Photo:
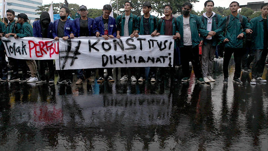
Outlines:
{"type": "Polygon", "coordinates": [[[255,17],[250,21],[250,28],[252,32],[252,46],[251,48],[255,50],[255,57],[253,60],[253,67],[251,72],[250,84],[255,85],[256,80],[260,82],[267,82],[262,79],[262,74],[265,66],[265,59],[268,53],[268,3],[261,5],[261,15],[255,17]]]}

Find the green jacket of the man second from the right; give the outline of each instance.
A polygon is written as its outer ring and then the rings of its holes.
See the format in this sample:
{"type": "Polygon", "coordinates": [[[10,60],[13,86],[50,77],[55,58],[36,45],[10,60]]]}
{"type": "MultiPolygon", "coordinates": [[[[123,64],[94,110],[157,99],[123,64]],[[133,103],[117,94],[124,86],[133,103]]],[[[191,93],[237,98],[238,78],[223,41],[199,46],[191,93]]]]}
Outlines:
{"type": "MultiPolygon", "coordinates": [[[[225,30],[225,26],[226,26],[226,16],[224,18],[222,18],[222,25],[220,25],[220,31],[222,32],[225,30]]],[[[230,15],[230,21],[229,24],[227,26],[227,31],[226,34],[223,38],[221,38],[220,40],[223,41],[225,38],[227,38],[229,41],[225,43],[225,47],[226,48],[242,48],[243,47],[243,38],[236,38],[239,34],[241,34],[243,32],[243,30],[245,31],[246,29],[249,29],[249,23],[247,22],[247,17],[243,16],[243,24],[242,27],[243,29],[241,29],[241,23],[239,21],[239,14],[236,15],[236,17],[234,17],[232,14],[230,15]]],[[[246,32],[244,33],[244,37],[246,36],[246,32]]]]}

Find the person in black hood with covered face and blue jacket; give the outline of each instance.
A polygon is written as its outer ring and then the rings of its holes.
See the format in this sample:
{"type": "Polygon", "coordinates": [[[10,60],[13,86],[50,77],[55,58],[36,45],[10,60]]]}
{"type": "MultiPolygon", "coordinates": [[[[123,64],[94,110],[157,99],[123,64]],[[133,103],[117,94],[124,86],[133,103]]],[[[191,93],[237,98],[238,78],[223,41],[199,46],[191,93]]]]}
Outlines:
{"type": "MultiPolygon", "coordinates": [[[[35,21],[32,25],[33,27],[33,36],[39,38],[50,38],[53,39],[52,28],[53,23],[50,22],[49,13],[43,12],[40,15],[40,20],[35,21]]],[[[36,83],[46,82],[45,78],[45,64],[48,65],[49,69],[49,83],[54,83],[54,65],[53,60],[38,60],[38,69],[40,78],[36,83]]]]}

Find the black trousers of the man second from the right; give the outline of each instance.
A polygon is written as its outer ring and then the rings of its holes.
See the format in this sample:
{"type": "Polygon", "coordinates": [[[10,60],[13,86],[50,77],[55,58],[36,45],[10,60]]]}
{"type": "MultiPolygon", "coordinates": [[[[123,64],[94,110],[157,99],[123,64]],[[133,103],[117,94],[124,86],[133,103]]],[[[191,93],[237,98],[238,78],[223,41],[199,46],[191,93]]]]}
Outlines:
{"type": "Polygon", "coordinates": [[[238,79],[240,78],[241,75],[241,59],[243,56],[243,48],[225,48],[224,60],[223,60],[223,74],[224,78],[229,77],[228,66],[232,54],[235,62],[235,73],[233,79],[238,79]]]}

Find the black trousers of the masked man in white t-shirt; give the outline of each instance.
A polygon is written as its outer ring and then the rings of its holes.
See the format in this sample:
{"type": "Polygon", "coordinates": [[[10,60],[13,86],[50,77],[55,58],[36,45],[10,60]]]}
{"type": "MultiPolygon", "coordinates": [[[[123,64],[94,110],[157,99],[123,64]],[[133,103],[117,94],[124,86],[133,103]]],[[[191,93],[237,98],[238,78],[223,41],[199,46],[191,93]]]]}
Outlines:
{"type": "Polygon", "coordinates": [[[194,68],[194,74],[196,78],[201,78],[201,64],[199,60],[199,48],[198,45],[195,47],[183,46],[180,48],[180,60],[183,70],[183,77],[190,77],[189,61],[191,61],[194,68]]]}

